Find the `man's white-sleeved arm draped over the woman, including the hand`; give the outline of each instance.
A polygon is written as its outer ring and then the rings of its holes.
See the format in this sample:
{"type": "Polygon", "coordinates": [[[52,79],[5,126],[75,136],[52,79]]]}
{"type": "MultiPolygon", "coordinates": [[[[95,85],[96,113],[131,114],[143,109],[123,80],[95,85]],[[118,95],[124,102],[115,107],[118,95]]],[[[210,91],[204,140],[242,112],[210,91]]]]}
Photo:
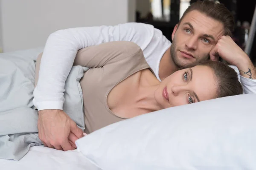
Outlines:
{"type": "Polygon", "coordinates": [[[132,41],[145,48],[145,42],[152,39],[153,32],[153,26],[127,23],[118,26],[70,28],[49,36],[41,58],[33,99],[38,108],[39,138],[45,146],[70,150],[76,147],[76,139],[82,137],[82,130],[62,111],[65,81],[77,51],[119,40],[132,41]]]}

